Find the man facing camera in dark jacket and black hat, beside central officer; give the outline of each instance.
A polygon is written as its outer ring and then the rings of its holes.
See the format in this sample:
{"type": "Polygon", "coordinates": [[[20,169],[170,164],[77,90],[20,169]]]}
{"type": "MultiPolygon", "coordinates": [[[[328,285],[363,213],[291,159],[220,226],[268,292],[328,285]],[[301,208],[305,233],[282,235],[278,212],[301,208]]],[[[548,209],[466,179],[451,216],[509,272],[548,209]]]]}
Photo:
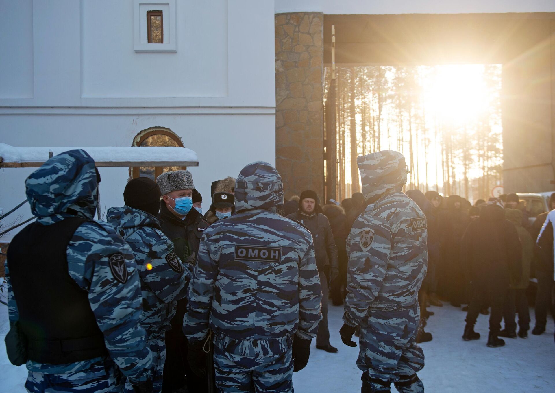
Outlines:
{"type": "MultiPolygon", "coordinates": [[[[318,325],[316,334],[316,348],[327,352],[337,352],[337,348],[330,344],[330,331],[327,328],[327,278],[326,269],[329,266],[331,282],[338,274],[337,268],[337,247],[335,246],[334,234],[331,231],[330,222],[321,213],[320,199],[312,190],[305,190],[299,198],[299,208],[296,213],[289,214],[287,218],[297,221],[312,234],[314,241],[314,252],[316,254],[316,266],[320,275],[322,287],[322,320],[318,325]]],[[[345,251],[346,252],[346,251],[345,251]]]]}

